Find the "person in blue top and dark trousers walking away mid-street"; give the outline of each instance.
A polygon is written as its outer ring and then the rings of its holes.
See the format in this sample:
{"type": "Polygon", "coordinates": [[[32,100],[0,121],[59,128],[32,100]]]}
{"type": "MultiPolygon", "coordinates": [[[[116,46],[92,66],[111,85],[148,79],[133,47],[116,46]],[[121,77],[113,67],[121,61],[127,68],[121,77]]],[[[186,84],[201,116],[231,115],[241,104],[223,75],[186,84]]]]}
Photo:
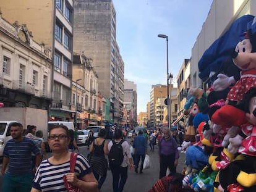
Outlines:
{"type": "Polygon", "coordinates": [[[139,135],[134,138],[134,142],[132,143],[132,147],[135,149],[135,173],[138,173],[138,167],[139,167],[139,162],[140,158],[142,158],[142,162],[140,164],[140,173],[143,173],[143,163],[145,159],[145,154],[147,154],[147,139],[145,136],[142,135],[143,131],[139,130],[139,135]]]}

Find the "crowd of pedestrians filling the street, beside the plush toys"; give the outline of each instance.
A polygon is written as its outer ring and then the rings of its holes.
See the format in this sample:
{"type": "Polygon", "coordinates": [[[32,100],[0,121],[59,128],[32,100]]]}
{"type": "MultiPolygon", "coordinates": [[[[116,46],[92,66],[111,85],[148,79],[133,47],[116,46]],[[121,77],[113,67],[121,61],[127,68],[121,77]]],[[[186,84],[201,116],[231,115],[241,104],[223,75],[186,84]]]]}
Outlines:
{"type": "Polygon", "coordinates": [[[176,140],[168,128],[156,131],[146,129],[132,132],[130,143],[126,141],[127,130],[111,128],[111,140],[107,141],[104,128],[100,129],[98,138],[93,137],[93,130],[88,133],[90,158],[79,154],[75,160],[74,172],[70,172],[71,154],[77,146],[77,131],[69,130],[64,125],[49,130],[48,144],[52,156],[47,159],[43,132],[36,131],[35,125],[28,125],[23,130],[20,123],[12,123],[12,140],[8,141],[3,152],[2,170],[4,175],[2,191],[49,191],[66,190],[70,186],[100,191],[108,170],[113,177],[113,191],[124,190],[128,178],[128,168],[135,173],[143,173],[145,155],[155,151],[158,144],[160,157],[160,179],[166,176],[169,168],[176,173],[176,140]],[[132,149],[131,149],[132,148],[132,149]],[[108,157],[108,158],[107,158],[108,157]]]}

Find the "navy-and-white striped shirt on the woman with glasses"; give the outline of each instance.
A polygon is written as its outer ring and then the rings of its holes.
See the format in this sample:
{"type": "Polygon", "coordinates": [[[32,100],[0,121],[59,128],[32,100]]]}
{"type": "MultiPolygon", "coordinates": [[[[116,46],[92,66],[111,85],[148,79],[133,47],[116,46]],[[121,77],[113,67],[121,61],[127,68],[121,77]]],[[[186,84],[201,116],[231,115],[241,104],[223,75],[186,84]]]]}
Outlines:
{"type": "MultiPolygon", "coordinates": [[[[41,191],[67,191],[64,186],[63,175],[69,173],[70,162],[53,165],[48,159],[42,161],[33,182],[33,188],[41,191]]],[[[75,162],[75,173],[77,177],[82,178],[84,175],[92,172],[89,162],[81,154],[77,156],[75,162]]]]}

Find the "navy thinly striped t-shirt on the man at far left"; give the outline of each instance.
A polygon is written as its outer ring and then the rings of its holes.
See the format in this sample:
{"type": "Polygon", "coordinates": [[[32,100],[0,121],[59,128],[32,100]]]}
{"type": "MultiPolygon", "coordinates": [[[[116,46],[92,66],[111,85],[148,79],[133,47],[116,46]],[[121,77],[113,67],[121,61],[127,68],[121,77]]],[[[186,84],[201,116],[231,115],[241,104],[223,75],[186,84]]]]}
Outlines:
{"type": "Polygon", "coordinates": [[[3,152],[3,156],[9,158],[6,173],[11,175],[32,173],[31,152],[35,155],[40,154],[40,150],[33,140],[24,137],[19,142],[14,139],[7,141],[3,152]]]}

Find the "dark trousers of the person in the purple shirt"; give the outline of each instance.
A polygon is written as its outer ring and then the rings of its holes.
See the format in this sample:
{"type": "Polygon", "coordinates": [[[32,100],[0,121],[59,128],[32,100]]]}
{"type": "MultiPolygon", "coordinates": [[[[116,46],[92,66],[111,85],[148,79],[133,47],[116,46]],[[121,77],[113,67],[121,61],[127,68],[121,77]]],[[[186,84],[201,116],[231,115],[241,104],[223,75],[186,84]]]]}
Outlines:
{"type": "Polygon", "coordinates": [[[167,167],[171,173],[176,173],[176,167],[174,167],[175,161],[175,153],[169,154],[168,156],[164,156],[161,154],[160,156],[160,175],[159,178],[166,176],[167,167]]]}

